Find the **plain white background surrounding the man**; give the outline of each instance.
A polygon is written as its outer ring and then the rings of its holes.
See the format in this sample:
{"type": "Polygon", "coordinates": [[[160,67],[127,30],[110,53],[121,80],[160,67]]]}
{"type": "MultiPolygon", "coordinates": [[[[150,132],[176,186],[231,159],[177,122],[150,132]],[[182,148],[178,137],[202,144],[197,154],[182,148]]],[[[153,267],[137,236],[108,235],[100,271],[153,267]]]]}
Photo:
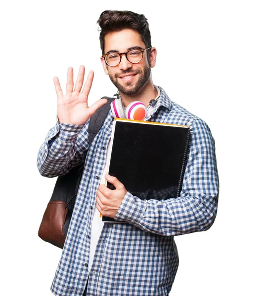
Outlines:
{"type": "Polygon", "coordinates": [[[270,1],[9,1],[0,5],[1,295],[50,296],[61,250],[38,228],[55,184],[36,160],[55,125],[53,77],[95,73],[89,101],[116,89],[103,72],[96,21],[143,13],[157,48],[153,82],[207,122],[216,141],[218,215],[175,237],[170,296],[270,295],[270,1]],[[131,4],[129,4],[131,2],[131,4]],[[268,283],[269,282],[269,283],[268,283]]]}

